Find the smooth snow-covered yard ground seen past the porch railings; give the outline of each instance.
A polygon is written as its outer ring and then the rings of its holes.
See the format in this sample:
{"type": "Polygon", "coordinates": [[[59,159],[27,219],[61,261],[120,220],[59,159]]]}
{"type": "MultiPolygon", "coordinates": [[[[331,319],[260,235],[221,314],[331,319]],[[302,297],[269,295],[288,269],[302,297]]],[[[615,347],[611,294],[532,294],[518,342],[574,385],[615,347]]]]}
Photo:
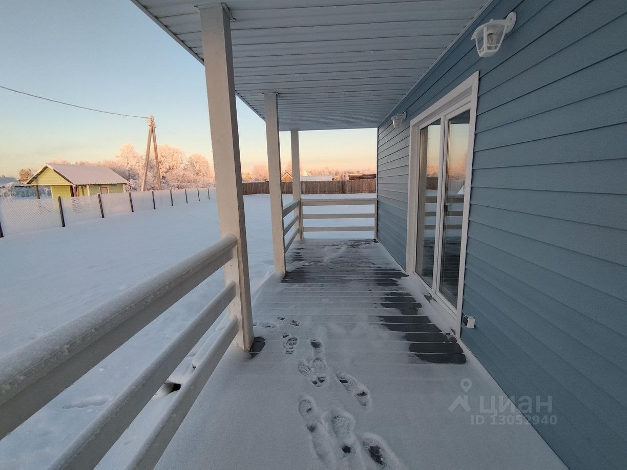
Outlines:
{"type": "MultiPolygon", "coordinates": [[[[119,214],[0,239],[0,361],[6,353],[216,243],[219,227],[214,196],[208,203],[119,214]]],[[[285,202],[291,199],[284,196],[285,202]]],[[[266,194],[244,200],[254,291],[273,269],[270,201],[266,194]]],[[[372,207],[310,210],[368,212],[372,207]]],[[[350,224],[368,225],[372,219],[350,219],[350,224]]],[[[325,234],[314,232],[311,236],[325,234]]],[[[372,238],[372,232],[334,232],[333,236],[372,238]]],[[[102,405],[118,395],[223,286],[218,271],[0,441],[0,468],[50,464],[102,405]]]]}

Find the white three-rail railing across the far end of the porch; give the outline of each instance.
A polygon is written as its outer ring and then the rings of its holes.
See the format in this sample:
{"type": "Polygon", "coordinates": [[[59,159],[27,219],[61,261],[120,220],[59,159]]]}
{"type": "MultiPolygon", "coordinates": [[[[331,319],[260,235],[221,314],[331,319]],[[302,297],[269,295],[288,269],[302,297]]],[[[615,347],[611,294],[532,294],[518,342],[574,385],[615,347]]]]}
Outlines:
{"type": "MultiPolygon", "coordinates": [[[[334,198],[334,199],[301,199],[300,204],[304,206],[373,206],[372,212],[349,212],[336,214],[330,213],[302,213],[303,224],[305,220],[312,219],[375,219],[377,213],[376,197],[354,197],[354,198],[334,198]]],[[[371,226],[303,226],[303,232],[374,232],[375,225],[371,226]]]]}

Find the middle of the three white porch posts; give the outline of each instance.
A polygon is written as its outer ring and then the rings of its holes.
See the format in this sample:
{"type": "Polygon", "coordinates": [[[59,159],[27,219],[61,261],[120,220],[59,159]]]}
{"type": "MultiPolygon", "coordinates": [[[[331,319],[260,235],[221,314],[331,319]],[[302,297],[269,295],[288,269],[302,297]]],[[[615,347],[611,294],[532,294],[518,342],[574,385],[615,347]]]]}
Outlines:
{"type": "Polygon", "coordinates": [[[275,271],[285,274],[285,238],[283,238],[283,196],[281,194],[281,150],[278,140],[277,93],[263,93],[270,179],[270,216],[275,271]]]}

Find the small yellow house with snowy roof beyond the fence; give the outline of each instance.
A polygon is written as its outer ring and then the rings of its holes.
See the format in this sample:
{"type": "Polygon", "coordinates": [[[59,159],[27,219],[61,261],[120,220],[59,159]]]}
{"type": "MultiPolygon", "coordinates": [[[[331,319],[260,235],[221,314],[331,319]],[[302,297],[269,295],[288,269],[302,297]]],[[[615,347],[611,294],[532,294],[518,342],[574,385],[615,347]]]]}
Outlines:
{"type": "Polygon", "coordinates": [[[50,163],[43,165],[41,170],[28,180],[28,184],[34,185],[37,189],[40,186],[50,186],[52,197],[124,192],[124,185],[128,183],[107,167],[50,163]]]}

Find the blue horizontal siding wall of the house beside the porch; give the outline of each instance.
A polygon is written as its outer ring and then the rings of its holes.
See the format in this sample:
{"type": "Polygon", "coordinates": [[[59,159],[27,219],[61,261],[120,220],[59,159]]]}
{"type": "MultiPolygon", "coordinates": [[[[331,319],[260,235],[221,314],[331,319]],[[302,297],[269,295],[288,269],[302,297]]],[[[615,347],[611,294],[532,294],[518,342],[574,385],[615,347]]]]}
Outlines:
{"type": "Polygon", "coordinates": [[[624,468],[627,1],[502,0],[473,26],[510,11],[497,55],[470,28],[379,127],[377,237],[404,266],[409,120],[479,70],[463,341],[508,395],[551,397],[536,429],[568,466],[624,468]]]}

